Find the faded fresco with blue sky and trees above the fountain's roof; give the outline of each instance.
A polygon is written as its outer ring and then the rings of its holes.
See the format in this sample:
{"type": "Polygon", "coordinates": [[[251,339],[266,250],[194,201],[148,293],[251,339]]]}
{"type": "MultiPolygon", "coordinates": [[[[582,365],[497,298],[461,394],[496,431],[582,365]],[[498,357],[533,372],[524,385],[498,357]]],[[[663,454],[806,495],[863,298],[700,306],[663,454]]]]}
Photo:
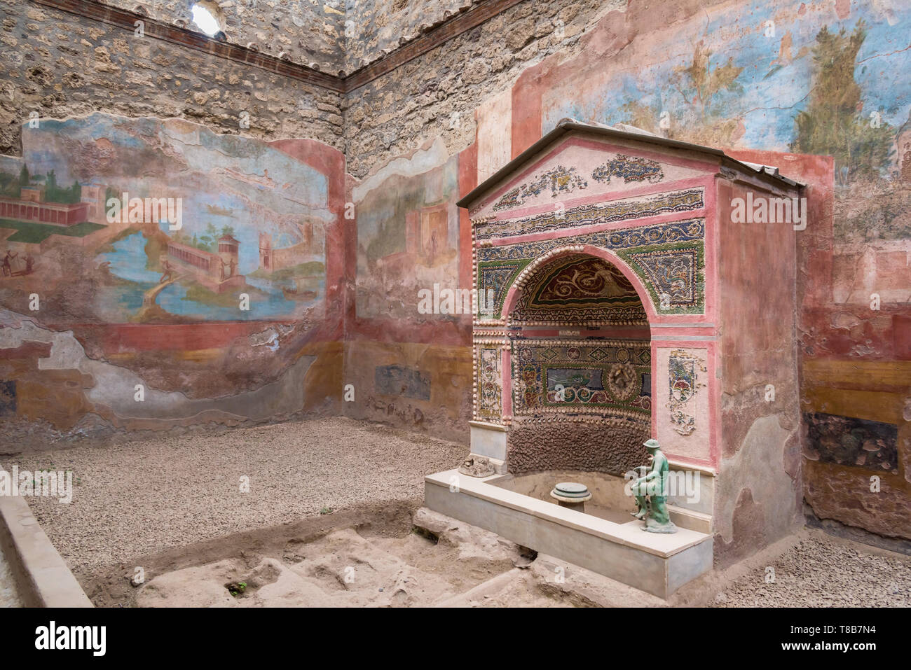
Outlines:
{"type": "Polygon", "coordinates": [[[574,117],[714,147],[832,156],[835,239],[907,238],[911,81],[896,74],[911,69],[911,52],[896,36],[908,33],[907,3],[707,8],[609,68],[592,60],[561,70],[543,129],[574,117]]]}

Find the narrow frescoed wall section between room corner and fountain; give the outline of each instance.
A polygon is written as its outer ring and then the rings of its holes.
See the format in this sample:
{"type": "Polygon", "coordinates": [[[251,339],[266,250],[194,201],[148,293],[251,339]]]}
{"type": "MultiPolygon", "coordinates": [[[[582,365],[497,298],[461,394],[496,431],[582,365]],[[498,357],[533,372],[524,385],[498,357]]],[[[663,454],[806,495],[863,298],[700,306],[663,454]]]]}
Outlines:
{"type": "Polygon", "coordinates": [[[442,142],[353,186],[356,276],[344,381],[360,394],[345,405],[356,418],[466,435],[471,279],[460,281],[458,187],[457,158],[442,142]]]}

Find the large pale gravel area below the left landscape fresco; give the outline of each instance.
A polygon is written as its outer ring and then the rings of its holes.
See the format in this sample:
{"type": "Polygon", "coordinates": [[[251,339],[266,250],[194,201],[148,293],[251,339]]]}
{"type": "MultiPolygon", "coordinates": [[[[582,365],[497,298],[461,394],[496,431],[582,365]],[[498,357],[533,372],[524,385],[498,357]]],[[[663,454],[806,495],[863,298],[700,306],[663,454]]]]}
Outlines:
{"type": "Polygon", "coordinates": [[[7,457],[4,465],[73,471],[72,503],[28,503],[70,568],[86,572],[323,510],[419,498],[425,474],[454,467],[466,452],[331,418],[7,457]],[[242,477],[250,492],[241,492],[242,477]]]}

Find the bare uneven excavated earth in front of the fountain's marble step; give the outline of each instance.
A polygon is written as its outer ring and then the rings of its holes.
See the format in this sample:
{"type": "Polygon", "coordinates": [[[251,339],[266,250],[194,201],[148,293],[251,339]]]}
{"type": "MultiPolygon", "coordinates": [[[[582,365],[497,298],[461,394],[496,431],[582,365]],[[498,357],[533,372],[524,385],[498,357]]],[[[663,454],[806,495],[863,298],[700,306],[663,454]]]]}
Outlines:
{"type": "Polygon", "coordinates": [[[388,536],[391,525],[379,534],[341,527],[292,543],[281,556],[247,554],[159,574],[138,587],[132,604],[572,607],[623,602],[632,594],[641,604],[663,604],[442,514],[422,508],[413,523],[422,531],[388,536]]]}

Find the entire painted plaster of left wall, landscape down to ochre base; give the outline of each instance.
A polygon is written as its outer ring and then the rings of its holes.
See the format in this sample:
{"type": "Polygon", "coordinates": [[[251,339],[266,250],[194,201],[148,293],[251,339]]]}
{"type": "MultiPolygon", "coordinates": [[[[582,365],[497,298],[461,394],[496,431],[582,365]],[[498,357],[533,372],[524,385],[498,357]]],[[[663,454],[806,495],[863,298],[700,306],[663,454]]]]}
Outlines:
{"type": "Polygon", "coordinates": [[[343,314],[339,152],[104,114],[40,119],[23,142],[0,163],[6,419],[106,432],[316,401],[304,380],[343,314]]]}

